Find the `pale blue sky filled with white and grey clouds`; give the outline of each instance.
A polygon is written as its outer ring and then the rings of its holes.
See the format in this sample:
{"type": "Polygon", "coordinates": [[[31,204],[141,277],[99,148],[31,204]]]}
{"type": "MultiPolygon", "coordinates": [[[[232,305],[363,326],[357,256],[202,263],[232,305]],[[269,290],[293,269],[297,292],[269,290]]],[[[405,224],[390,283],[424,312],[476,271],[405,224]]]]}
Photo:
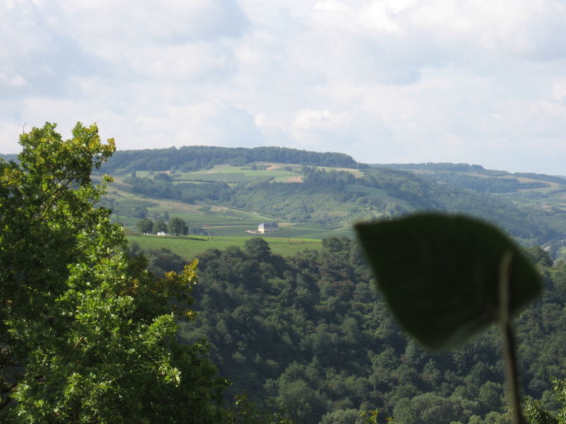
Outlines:
{"type": "Polygon", "coordinates": [[[0,0],[0,153],[287,146],[566,175],[564,0],[0,0]]]}

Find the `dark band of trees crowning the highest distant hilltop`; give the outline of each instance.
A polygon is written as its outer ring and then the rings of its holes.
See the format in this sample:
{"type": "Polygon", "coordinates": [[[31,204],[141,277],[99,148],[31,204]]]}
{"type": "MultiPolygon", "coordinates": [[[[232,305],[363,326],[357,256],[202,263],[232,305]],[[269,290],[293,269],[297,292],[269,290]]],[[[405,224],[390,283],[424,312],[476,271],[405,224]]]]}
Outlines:
{"type": "Polygon", "coordinates": [[[151,150],[117,151],[101,170],[122,174],[132,170],[183,172],[202,170],[228,163],[241,166],[252,162],[298,163],[300,165],[356,167],[344,153],[319,153],[286,147],[183,146],[151,150]]]}

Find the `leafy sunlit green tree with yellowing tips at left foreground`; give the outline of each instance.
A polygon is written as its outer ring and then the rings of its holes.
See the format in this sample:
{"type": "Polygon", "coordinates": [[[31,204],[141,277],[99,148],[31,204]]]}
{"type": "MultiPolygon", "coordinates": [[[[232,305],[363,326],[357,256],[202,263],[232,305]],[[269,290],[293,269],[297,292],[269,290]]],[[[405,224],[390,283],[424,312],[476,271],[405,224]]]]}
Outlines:
{"type": "Polygon", "coordinates": [[[0,421],[222,422],[226,382],[203,343],[176,338],[196,263],[156,280],[94,206],[91,169],[114,142],[47,123],[21,145],[20,163],[0,161],[0,421]]]}

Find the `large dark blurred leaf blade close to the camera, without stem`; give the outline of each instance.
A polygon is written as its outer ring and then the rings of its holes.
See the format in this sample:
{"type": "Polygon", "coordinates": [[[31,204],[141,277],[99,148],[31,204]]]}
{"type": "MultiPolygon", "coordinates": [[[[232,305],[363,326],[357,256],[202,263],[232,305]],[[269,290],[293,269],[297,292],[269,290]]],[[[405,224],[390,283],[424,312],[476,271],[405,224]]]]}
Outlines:
{"type": "Polygon", "coordinates": [[[429,349],[455,348],[497,322],[506,252],[512,254],[511,312],[541,291],[536,269],[519,248],[483,221],[418,213],[355,228],[393,314],[429,349]]]}

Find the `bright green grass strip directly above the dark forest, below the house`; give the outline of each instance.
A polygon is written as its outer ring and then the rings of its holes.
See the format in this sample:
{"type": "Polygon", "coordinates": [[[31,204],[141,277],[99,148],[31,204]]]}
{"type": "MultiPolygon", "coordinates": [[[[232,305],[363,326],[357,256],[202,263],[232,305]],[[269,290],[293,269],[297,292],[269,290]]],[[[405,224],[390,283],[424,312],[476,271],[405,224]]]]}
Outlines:
{"type": "MultiPolygon", "coordinates": [[[[200,253],[207,249],[224,250],[229,246],[238,246],[243,248],[244,242],[250,237],[258,237],[249,235],[248,237],[206,237],[200,235],[191,236],[167,236],[160,237],[156,235],[129,235],[129,242],[137,242],[142,249],[161,249],[165,247],[172,252],[178,254],[187,260],[198,257],[200,253]]],[[[269,243],[271,250],[275,254],[282,256],[291,256],[305,249],[320,249],[322,240],[317,239],[289,239],[282,237],[262,237],[269,243]]]]}

